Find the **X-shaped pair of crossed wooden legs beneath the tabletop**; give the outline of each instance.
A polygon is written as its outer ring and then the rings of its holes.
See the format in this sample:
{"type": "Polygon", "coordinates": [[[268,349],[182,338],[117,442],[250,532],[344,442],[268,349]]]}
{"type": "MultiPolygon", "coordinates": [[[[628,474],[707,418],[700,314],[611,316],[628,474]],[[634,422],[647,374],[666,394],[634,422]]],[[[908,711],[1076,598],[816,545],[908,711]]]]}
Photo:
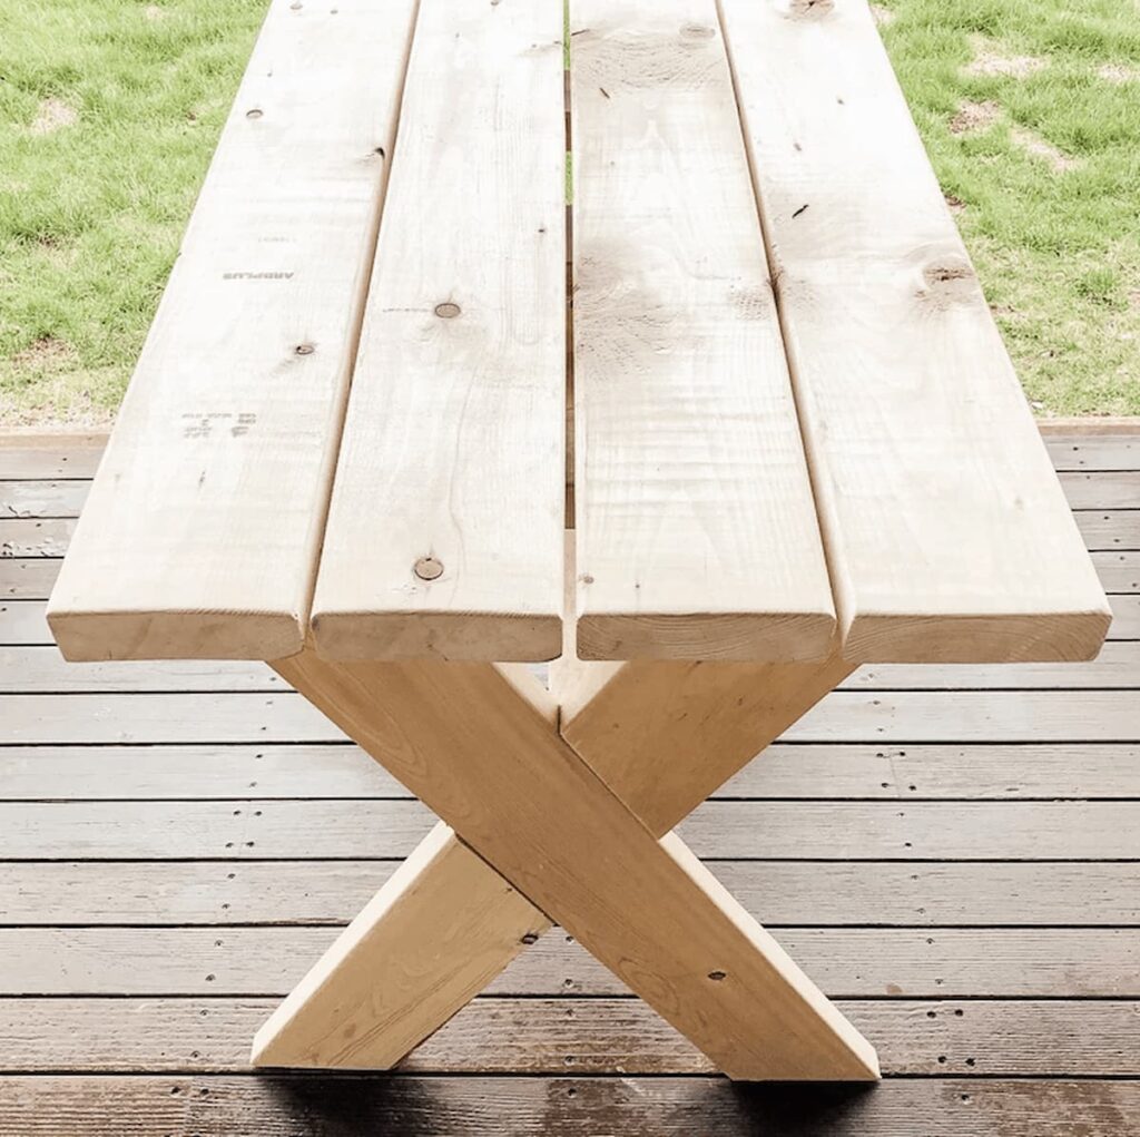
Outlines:
{"type": "Polygon", "coordinates": [[[259,1032],[260,1065],[386,1067],[559,920],[726,1073],[869,1080],[871,1046],[669,830],[850,666],[636,663],[562,707],[491,664],[275,665],[435,830],[259,1032]]]}

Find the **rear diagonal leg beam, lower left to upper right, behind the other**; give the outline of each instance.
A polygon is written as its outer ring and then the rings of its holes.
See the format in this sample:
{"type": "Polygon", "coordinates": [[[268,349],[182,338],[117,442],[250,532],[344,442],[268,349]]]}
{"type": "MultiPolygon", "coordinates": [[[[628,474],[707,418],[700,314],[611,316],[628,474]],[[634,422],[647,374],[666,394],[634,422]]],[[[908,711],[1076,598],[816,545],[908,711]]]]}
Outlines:
{"type": "MultiPolygon", "coordinates": [[[[568,553],[572,580],[572,544],[568,553]]],[[[567,610],[572,590],[568,583],[567,610]]],[[[562,635],[565,672],[575,656],[571,620],[562,635]]],[[[611,677],[570,722],[577,726],[571,745],[661,837],[850,665],[646,661],[621,664],[616,672],[605,664],[577,664],[577,669],[611,677]],[[707,760],[694,762],[700,754],[707,760]],[[645,775],[650,770],[654,777],[645,775]]],[[[596,677],[576,682],[576,693],[596,677]]],[[[567,713],[563,702],[560,720],[567,713]]],[[[256,1064],[386,1069],[486,986],[521,943],[545,931],[542,913],[520,907],[505,882],[492,887],[494,874],[489,878],[486,866],[457,842],[446,845],[429,835],[413,861],[415,874],[377,893],[259,1031],[256,1064]],[[398,902],[388,899],[393,893],[398,902]],[[409,972],[406,959],[418,958],[417,944],[432,945],[431,961],[409,972]],[[399,958],[385,958],[389,952],[399,958]],[[385,993],[377,998],[377,972],[392,967],[400,981],[381,984],[385,993]]]]}

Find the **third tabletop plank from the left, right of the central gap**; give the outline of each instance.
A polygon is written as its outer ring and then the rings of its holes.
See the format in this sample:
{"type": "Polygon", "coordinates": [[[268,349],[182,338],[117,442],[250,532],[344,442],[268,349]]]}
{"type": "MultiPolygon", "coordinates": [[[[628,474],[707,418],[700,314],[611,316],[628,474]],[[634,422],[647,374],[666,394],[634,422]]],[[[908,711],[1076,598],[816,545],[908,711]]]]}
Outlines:
{"type": "Polygon", "coordinates": [[[716,5],[570,17],[579,652],[822,659],[834,611],[716,5]]]}

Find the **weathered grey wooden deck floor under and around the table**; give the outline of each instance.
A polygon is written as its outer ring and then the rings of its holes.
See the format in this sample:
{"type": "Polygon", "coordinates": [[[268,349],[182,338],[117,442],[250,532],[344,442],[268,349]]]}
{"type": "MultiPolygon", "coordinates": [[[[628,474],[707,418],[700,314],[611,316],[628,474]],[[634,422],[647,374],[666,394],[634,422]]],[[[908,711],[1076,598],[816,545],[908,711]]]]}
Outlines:
{"type": "Polygon", "coordinates": [[[0,1134],[1140,1131],[1140,437],[1050,448],[1101,660],[864,668],[684,826],[878,1046],[840,1090],[709,1077],[560,934],[400,1073],[252,1074],[430,814],[264,667],[65,666],[98,449],[0,446],[0,1134]]]}

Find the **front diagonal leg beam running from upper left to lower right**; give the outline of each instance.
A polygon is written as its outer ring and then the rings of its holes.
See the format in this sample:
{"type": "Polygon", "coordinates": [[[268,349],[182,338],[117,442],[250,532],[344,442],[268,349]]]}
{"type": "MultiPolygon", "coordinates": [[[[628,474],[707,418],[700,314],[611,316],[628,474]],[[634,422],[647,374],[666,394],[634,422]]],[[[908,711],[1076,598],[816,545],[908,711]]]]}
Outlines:
{"type": "Polygon", "coordinates": [[[878,1077],[871,1047],[679,838],[643,828],[492,667],[308,651],[275,666],[730,1077],[878,1077]]]}

